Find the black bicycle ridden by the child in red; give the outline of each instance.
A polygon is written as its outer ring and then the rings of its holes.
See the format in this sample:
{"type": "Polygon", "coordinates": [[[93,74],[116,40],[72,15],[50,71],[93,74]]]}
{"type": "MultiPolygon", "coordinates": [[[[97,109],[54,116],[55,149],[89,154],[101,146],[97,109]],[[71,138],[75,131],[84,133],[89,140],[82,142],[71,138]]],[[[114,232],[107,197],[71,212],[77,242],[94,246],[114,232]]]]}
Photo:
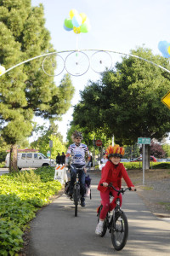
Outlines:
{"type": "MultiPolygon", "coordinates": [[[[100,184],[100,185],[103,185],[103,184],[100,184]]],[[[120,190],[117,190],[115,187],[112,186],[112,184],[109,184],[108,187],[114,189],[117,192],[117,196],[113,200],[113,201],[116,201],[116,207],[113,210],[112,215],[111,215],[111,212],[107,213],[104,220],[103,231],[100,234],[100,236],[105,236],[105,233],[108,229],[109,232],[111,233],[111,241],[112,241],[113,247],[116,249],[116,251],[120,251],[126,245],[126,242],[127,242],[128,223],[127,223],[127,217],[120,207],[119,195],[121,193],[123,195],[127,190],[131,190],[131,188],[126,188],[126,189],[122,188],[120,190]]],[[[112,194],[110,196],[112,196],[112,194]]],[[[98,223],[99,223],[99,215],[102,207],[103,206],[101,205],[98,209],[98,214],[97,214],[98,223]]]]}

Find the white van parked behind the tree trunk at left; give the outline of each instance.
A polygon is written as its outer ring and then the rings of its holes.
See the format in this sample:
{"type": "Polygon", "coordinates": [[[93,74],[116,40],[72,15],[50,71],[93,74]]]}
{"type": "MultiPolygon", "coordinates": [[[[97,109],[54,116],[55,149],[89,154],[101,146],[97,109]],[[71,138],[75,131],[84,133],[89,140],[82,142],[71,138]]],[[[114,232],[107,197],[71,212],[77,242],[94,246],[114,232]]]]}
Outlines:
{"type": "MultiPolygon", "coordinates": [[[[6,156],[5,160],[5,167],[9,167],[9,153],[6,156]]],[[[21,170],[22,168],[37,168],[42,166],[55,166],[55,161],[48,159],[42,153],[35,153],[35,152],[20,152],[18,153],[18,168],[21,170]]]]}

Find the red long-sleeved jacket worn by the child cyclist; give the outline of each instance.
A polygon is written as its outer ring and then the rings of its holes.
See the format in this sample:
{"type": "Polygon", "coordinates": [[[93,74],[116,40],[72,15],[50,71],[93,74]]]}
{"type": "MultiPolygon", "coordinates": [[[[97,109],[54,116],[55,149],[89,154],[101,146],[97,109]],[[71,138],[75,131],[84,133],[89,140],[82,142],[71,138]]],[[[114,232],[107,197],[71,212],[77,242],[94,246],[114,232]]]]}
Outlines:
{"type": "Polygon", "coordinates": [[[105,167],[102,169],[101,179],[99,181],[98,190],[105,192],[108,188],[100,186],[100,183],[112,183],[114,187],[121,189],[122,186],[122,177],[127,183],[127,187],[133,187],[131,179],[128,177],[127,171],[122,163],[119,163],[117,166],[114,165],[110,160],[105,164],[105,167]]]}

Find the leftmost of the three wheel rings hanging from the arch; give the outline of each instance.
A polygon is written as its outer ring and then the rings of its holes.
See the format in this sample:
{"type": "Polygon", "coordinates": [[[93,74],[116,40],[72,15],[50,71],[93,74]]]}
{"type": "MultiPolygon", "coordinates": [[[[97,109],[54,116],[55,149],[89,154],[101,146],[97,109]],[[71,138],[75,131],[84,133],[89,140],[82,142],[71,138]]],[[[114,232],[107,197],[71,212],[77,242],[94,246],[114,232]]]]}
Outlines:
{"type": "Polygon", "coordinates": [[[58,76],[65,69],[65,61],[58,54],[47,55],[42,61],[42,69],[50,77],[58,76]]]}

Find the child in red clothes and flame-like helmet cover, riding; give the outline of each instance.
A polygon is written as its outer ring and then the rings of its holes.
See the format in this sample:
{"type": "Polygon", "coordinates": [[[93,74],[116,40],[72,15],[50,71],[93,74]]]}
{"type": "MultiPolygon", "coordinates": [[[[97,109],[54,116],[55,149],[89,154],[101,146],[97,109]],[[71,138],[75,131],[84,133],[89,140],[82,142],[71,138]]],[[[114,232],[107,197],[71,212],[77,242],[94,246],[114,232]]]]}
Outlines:
{"type": "MultiPolygon", "coordinates": [[[[127,175],[127,171],[122,163],[120,163],[121,158],[124,154],[124,148],[120,147],[119,145],[115,145],[114,147],[109,146],[106,149],[106,157],[108,161],[106,162],[105,166],[102,168],[101,179],[99,181],[98,189],[100,191],[101,203],[102,203],[102,210],[99,215],[99,223],[97,224],[95,233],[100,235],[103,231],[103,224],[107,212],[110,212],[116,207],[116,202],[111,201],[110,203],[110,192],[113,196],[117,195],[117,192],[112,189],[108,188],[108,184],[112,183],[112,185],[116,189],[121,189],[122,186],[122,177],[124,178],[125,182],[127,183],[127,187],[131,188],[134,191],[134,186],[132,181],[127,175]],[[101,186],[100,184],[103,184],[101,186]]],[[[120,194],[120,201],[122,206],[122,195],[120,194]]]]}

